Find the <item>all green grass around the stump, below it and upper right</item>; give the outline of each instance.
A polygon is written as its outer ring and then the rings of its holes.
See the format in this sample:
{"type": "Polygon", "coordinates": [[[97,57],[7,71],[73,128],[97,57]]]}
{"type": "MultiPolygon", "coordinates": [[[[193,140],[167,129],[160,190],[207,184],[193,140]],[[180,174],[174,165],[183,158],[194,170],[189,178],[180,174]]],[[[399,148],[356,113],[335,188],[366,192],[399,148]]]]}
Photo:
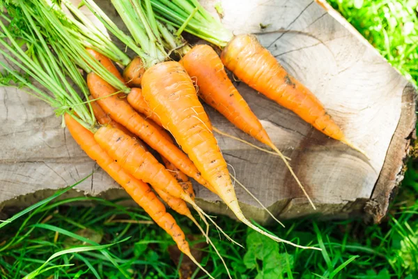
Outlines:
{"type": "MultiPolygon", "coordinates": [[[[330,2],[416,84],[417,1],[330,2]],[[414,24],[412,29],[408,22],[414,24]]],[[[286,229],[268,227],[285,239],[323,248],[322,252],[275,243],[226,217],[217,218],[217,223],[246,249],[219,239],[215,230],[210,235],[234,271],[233,278],[418,278],[415,169],[418,165],[411,162],[400,193],[380,225],[309,219],[288,221],[286,229]]],[[[178,278],[178,265],[168,252],[173,246],[170,236],[141,209],[126,209],[118,202],[90,197],[49,199],[10,223],[0,223],[0,278],[33,278],[36,273],[38,278],[178,278]],[[86,200],[96,206],[63,206],[86,200]]],[[[199,235],[189,220],[173,216],[187,235],[199,235]]],[[[203,250],[202,264],[215,277],[226,278],[213,250],[203,250]]]]}

